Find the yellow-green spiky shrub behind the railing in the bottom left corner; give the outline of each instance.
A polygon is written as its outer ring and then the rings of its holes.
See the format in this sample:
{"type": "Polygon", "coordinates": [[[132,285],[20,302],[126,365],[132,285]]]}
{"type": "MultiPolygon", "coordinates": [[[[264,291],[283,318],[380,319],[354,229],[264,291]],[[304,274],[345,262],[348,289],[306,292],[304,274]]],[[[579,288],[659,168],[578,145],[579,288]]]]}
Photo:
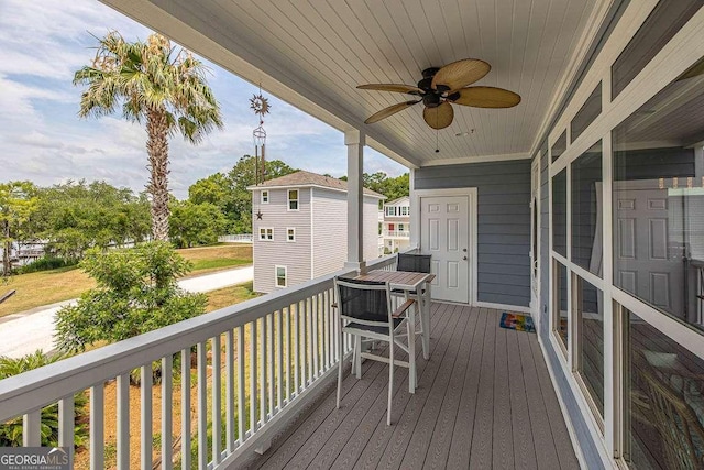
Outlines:
{"type": "MultiPolygon", "coordinates": [[[[62,354],[44,354],[42,350],[22,358],[0,357],[0,380],[18,375],[32,369],[38,369],[64,359],[62,354]]],[[[84,447],[88,439],[88,397],[85,392],[74,397],[75,428],[74,441],[76,448],[84,447]]],[[[22,446],[22,416],[0,424],[0,447],[22,446]]],[[[58,403],[42,408],[42,446],[58,446],[58,403]]]]}

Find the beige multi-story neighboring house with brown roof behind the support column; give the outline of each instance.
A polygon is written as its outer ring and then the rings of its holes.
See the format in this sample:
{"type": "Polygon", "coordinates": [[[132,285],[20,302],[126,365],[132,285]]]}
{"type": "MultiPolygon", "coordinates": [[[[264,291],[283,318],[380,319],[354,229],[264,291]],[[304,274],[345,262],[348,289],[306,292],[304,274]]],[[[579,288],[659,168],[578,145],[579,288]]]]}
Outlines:
{"type": "MultiPolygon", "coordinates": [[[[254,291],[271,293],[338,271],[346,259],[346,182],[310,172],[252,192],[254,291]]],[[[364,258],[378,256],[378,201],[364,189],[364,258]]]]}

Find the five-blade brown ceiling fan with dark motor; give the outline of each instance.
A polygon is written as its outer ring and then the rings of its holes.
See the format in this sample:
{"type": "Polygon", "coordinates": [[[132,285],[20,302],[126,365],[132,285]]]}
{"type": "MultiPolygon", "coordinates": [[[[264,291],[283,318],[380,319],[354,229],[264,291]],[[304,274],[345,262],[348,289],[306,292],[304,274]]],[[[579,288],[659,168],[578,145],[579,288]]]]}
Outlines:
{"type": "Polygon", "coordinates": [[[360,85],[359,89],[408,94],[418,97],[416,100],[399,102],[384,108],[370,116],[365,124],[378,122],[406,108],[422,101],[422,118],[432,129],[444,129],[452,123],[454,110],[452,105],[472,106],[475,108],[512,108],[520,102],[520,96],[495,87],[470,87],[491,69],[484,61],[465,58],[444,67],[430,67],[422,70],[422,79],[418,86],[397,84],[360,85]]]}

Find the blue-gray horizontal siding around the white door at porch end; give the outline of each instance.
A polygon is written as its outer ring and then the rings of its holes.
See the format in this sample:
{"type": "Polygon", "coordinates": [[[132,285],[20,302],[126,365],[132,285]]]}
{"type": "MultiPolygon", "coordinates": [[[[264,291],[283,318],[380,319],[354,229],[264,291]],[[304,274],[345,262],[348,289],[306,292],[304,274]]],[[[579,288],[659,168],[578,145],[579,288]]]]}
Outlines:
{"type": "Polygon", "coordinates": [[[416,189],[477,188],[477,299],[530,303],[530,161],[431,166],[416,189]]]}

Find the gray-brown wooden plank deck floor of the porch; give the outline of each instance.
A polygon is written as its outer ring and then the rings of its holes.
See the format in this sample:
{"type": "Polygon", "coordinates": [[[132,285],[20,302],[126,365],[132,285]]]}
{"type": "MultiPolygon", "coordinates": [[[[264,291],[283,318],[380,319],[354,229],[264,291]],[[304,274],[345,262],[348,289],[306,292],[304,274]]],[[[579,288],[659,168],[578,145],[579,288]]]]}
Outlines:
{"type": "Polygon", "coordinates": [[[501,311],[433,304],[431,353],[418,345],[418,389],[396,368],[386,426],[388,369],[366,361],[302,409],[264,455],[238,468],[576,469],[560,406],[535,334],[498,327],[501,311]]]}

